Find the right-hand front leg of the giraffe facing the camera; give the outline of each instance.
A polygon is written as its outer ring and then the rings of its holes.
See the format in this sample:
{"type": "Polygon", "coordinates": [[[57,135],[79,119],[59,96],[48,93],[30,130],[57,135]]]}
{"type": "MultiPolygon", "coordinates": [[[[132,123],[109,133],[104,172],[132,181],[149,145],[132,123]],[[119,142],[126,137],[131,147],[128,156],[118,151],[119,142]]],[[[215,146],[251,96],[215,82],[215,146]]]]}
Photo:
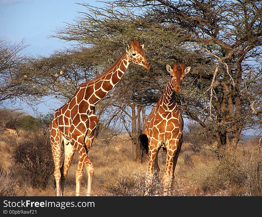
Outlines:
{"type": "Polygon", "coordinates": [[[173,171],[173,160],[176,154],[176,150],[178,147],[178,140],[170,141],[167,145],[167,154],[166,154],[166,168],[163,175],[162,183],[163,183],[163,195],[167,196],[171,194],[171,182],[173,179],[173,175],[171,175],[171,171],[173,171]]]}

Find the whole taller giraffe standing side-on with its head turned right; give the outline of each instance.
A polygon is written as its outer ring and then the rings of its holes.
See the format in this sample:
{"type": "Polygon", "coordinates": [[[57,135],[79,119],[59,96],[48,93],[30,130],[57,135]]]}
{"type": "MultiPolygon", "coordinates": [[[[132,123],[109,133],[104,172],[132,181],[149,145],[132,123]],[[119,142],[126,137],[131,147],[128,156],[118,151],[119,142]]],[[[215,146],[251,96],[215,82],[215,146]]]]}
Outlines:
{"type": "Polygon", "coordinates": [[[63,196],[65,178],[76,150],[79,152],[76,196],[79,196],[84,165],[88,174],[86,195],[90,196],[94,168],[87,154],[98,125],[95,106],[116,86],[131,62],[142,65],[147,70],[150,69],[143,48],[144,44],[140,45],[139,40],[135,42],[132,39],[130,45],[127,45],[126,51],[109,70],[92,81],[81,84],[73,97],[54,112],[49,133],[54,158],[57,196],[63,196]],[[64,145],[65,158],[60,168],[62,144],[64,145]]]}

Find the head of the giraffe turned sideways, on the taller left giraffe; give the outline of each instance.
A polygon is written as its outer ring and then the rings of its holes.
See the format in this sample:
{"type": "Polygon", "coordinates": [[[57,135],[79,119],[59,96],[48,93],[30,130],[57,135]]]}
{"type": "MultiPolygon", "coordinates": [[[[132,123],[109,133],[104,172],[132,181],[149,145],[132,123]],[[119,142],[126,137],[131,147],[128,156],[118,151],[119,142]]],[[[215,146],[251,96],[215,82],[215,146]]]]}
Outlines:
{"type": "Polygon", "coordinates": [[[150,65],[143,53],[144,44],[140,45],[139,40],[132,39],[130,46],[127,45],[126,52],[129,60],[135,64],[142,65],[146,69],[150,69],[150,65]]]}

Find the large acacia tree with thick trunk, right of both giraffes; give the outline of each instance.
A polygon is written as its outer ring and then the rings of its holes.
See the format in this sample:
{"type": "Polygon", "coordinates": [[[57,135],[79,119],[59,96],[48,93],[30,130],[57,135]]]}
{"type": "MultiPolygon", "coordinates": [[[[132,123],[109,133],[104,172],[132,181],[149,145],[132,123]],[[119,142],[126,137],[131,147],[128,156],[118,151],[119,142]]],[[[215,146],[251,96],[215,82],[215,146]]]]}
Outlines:
{"type": "Polygon", "coordinates": [[[218,147],[231,144],[236,148],[241,130],[250,126],[247,120],[258,120],[261,114],[261,89],[255,88],[261,86],[261,1],[124,0],[112,4],[146,20],[147,26],[152,23],[171,35],[179,34],[174,46],[183,42],[192,52],[186,55],[192,70],[185,86],[190,88],[179,98],[183,113],[212,131],[218,147]]]}

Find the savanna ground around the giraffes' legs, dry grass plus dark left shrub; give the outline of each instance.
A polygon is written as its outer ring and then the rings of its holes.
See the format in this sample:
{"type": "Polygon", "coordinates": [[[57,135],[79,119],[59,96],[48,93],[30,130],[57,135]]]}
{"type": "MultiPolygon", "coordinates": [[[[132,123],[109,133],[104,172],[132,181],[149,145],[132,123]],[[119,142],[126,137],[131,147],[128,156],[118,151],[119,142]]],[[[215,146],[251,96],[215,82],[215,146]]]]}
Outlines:
{"type": "MultiPolygon", "coordinates": [[[[185,138],[186,135],[185,135],[185,138]]],[[[257,144],[241,141],[236,151],[217,153],[215,144],[192,144],[185,141],[180,152],[172,190],[173,196],[262,196],[262,155],[257,144]]],[[[20,131],[19,137],[0,135],[0,195],[55,196],[53,160],[48,135],[20,131]]],[[[89,151],[94,165],[91,196],[142,196],[148,160],[132,160],[128,134],[121,133],[110,142],[95,139],[89,151]]],[[[64,196],[75,194],[76,152],[66,177],[64,196]]],[[[163,174],[166,154],[159,152],[163,174]]],[[[63,160],[63,159],[62,159],[63,160]]],[[[87,174],[81,183],[85,195],[87,174]]],[[[162,195],[160,185],[152,186],[162,195]]]]}

